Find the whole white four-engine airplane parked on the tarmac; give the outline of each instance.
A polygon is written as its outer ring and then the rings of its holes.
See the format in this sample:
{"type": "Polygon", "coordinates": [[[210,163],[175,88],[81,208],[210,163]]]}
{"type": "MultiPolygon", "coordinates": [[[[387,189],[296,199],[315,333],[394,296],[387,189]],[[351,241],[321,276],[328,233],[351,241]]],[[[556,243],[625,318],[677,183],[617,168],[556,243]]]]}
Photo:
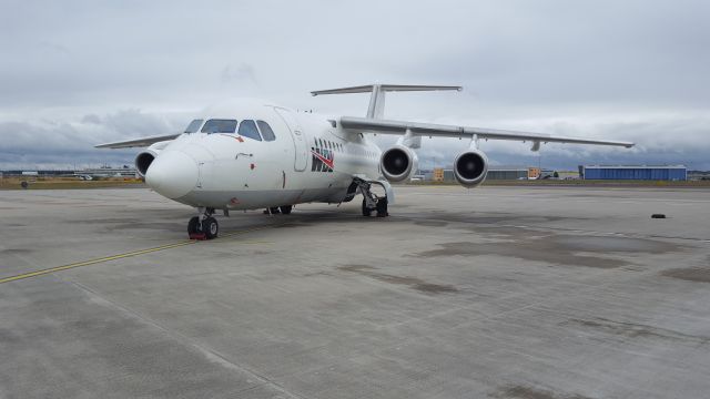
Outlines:
{"type": "Polygon", "coordinates": [[[539,133],[440,125],[383,119],[385,93],[456,90],[460,86],[372,84],[322,90],[313,95],[372,92],[365,117],[331,119],[260,101],[217,106],[193,120],[180,134],[97,145],[99,149],[145,147],[135,166],[159,194],[194,206],[187,223],[191,238],[219,234],[216,209],[267,208],[288,214],[302,203],[343,203],[363,194],[364,216],[387,216],[394,203],[390,182],[407,181],[417,171],[414,150],[422,136],[459,137],[468,146],[454,161],[454,175],[465,187],[486,180],[488,157],[480,140],[598,144],[631,147],[633,143],[554,136],[539,133]],[[384,152],[367,133],[398,135],[384,152]],[[373,185],[384,188],[377,195],[373,185]]]}

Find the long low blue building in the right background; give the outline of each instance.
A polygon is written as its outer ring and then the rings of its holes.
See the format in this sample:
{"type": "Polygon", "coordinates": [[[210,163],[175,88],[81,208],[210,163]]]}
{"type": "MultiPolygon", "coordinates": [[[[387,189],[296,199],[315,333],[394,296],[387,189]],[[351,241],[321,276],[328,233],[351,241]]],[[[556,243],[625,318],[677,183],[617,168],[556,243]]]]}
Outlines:
{"type": "Polygon", "coordinates": [[[686,181],[688,168],[684,165],[586,165],[579,166],[579,174],[585,180],[648,180],[648,181],[686,181]]]}

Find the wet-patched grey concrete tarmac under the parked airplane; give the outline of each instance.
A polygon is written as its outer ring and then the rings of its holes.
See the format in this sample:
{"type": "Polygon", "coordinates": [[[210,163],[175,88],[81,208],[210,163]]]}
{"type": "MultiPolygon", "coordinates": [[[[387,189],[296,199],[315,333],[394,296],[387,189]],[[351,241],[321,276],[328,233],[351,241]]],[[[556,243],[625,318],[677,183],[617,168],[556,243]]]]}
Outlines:
{"type": "Polygon", "coordinates": [[[190,242],[149,190],[0,192],[0,397],[710,396],[710,191],[396,194],[190,242]]]}

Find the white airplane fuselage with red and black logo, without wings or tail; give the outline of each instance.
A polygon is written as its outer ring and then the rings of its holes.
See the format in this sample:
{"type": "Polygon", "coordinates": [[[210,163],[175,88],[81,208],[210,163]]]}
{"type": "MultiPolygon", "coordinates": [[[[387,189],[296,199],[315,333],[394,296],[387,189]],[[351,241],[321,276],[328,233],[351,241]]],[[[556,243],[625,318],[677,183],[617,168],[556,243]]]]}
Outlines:
{"type": "Polygon", "coordinates": [[[376,180],[381,175],[377,145],[324,115],[263,105],[197,120],[203,124],[210,120],[261,121],[271,126],[275,139],[257,141],[239,130],[199,130],[151,146],[156,157],[145,174],[146,183],[186,205],[253,209],[339,203],[348,197],[354,177],[376,180]]]}

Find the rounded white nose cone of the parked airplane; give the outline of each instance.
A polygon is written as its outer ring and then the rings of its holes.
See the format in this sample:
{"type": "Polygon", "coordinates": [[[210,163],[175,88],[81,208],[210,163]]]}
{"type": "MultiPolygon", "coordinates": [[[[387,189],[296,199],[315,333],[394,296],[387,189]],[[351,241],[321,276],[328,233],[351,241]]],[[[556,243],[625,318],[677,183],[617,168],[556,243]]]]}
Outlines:
{"type": "Polygon", "coordinates": [[[163,196],[180,198],[197,184],[197,163],[179,151],[163,152],[148,168],[145,183],[163,196]]]}

